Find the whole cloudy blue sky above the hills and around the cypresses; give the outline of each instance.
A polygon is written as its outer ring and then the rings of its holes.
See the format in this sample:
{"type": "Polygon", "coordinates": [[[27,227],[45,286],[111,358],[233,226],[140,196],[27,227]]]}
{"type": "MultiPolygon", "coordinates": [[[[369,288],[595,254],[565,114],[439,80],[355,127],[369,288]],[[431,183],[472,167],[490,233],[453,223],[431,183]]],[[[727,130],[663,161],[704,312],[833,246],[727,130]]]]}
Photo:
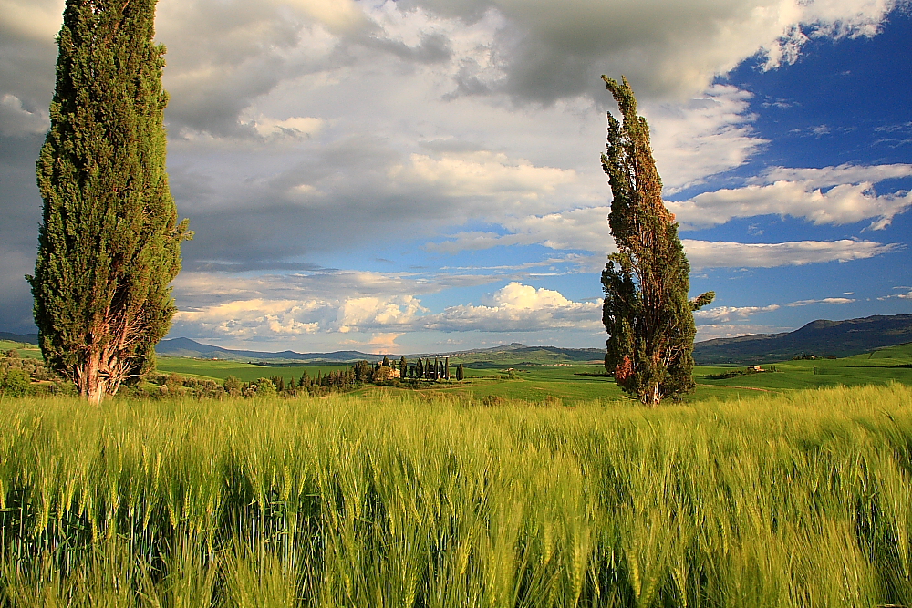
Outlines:
{"type": "MultiPolygon", "coordinates": [[[[0,0],[0,331],[64,3],[0,0]]],[[[698,340],[912,313],[912,7],[892,0],[160,0],[183,245],[169,337],[604,347],[602,74],[680,222],[698,340]]]]}

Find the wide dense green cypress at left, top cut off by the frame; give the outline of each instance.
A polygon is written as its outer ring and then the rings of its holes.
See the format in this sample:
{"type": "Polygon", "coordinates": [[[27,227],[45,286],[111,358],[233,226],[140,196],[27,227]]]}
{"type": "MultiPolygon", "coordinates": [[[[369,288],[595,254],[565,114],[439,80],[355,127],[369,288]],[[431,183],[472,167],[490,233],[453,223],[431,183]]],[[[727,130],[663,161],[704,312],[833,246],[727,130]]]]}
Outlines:
{"type": "Polygon", "coordinates": [[[44,218],[28,279],[41,350],[95,403],[153,365],[191,236],[165,172],[155,4],[67,0],[37,160],[44,218]]]}

